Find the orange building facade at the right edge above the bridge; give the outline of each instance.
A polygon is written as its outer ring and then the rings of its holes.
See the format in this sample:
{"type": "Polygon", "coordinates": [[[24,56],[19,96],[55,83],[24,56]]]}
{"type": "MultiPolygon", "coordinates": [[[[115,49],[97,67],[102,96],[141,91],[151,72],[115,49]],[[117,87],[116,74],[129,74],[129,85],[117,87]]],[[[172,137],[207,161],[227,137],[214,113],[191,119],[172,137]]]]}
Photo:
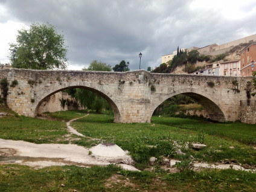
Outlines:
{"type": "Polygon", "coordinates": [[[240,69],[241,76],[252,76],[252,72],[256,71],[256,43],[251,43],[240,52],[240,69]]]}

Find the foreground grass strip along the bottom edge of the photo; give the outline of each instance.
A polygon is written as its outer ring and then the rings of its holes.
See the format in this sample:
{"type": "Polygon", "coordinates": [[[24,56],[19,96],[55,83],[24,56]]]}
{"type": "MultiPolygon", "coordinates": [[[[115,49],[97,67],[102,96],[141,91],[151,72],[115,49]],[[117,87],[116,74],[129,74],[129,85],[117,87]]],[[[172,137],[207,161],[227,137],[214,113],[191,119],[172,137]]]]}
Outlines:
{"type": "Polygon", "coordinates": [[[115,165],[91,168],[0,165],[0,191],[255,191],[256,173],[186,170],[152,173],[121,170],[115,165]]]}

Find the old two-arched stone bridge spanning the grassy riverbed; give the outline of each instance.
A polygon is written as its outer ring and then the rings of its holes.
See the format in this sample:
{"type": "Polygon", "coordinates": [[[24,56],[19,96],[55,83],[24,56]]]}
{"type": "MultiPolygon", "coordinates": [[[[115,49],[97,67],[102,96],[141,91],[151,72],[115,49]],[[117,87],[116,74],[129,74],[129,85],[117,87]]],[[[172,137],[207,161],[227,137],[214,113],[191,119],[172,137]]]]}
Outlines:
{"type": "Polygon", "coordinates": [[[19,115],[35,117],[40,103],[68,88],[96,92],[114,109],[116,123],[145,123],[156,107],[178,94],[188,95],[206,109],[211,120],[238,120],[251,77],[129,72],[0,70],[8,81],[8,106],[19,115]],[[18,85],[12,85],[16,80],[18,85]]]}

